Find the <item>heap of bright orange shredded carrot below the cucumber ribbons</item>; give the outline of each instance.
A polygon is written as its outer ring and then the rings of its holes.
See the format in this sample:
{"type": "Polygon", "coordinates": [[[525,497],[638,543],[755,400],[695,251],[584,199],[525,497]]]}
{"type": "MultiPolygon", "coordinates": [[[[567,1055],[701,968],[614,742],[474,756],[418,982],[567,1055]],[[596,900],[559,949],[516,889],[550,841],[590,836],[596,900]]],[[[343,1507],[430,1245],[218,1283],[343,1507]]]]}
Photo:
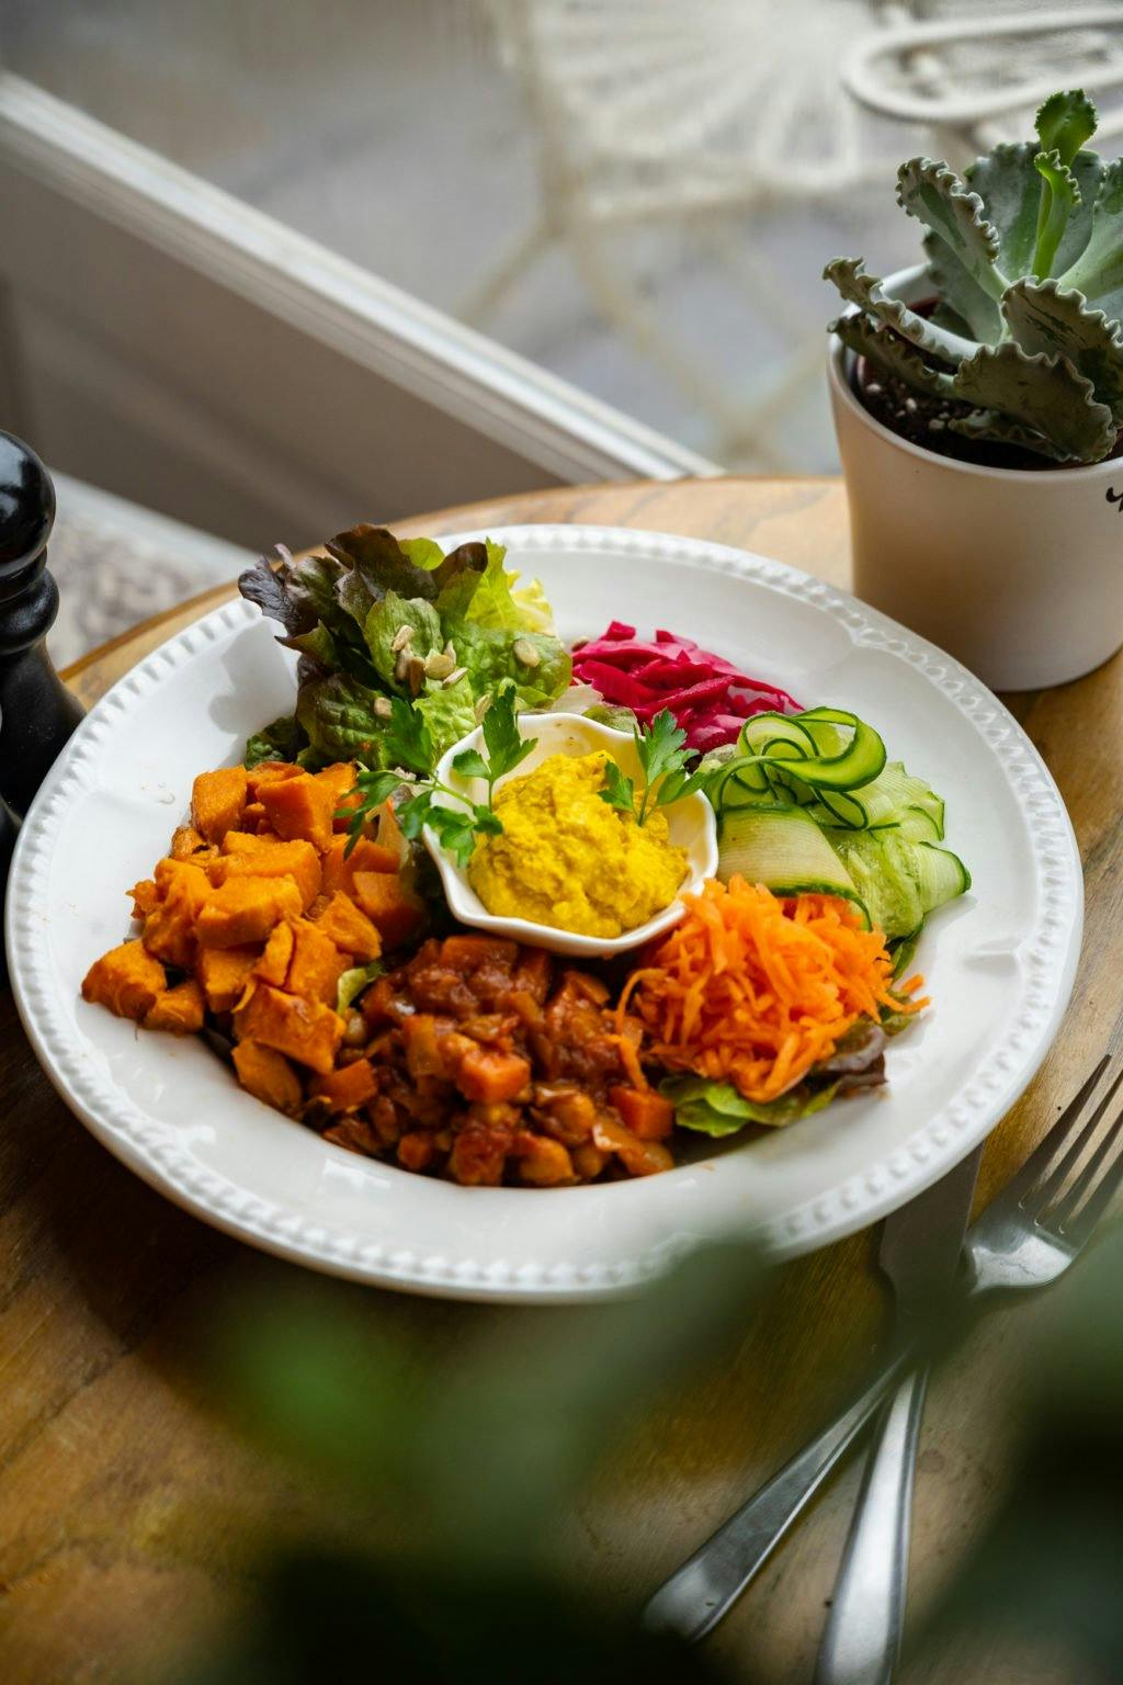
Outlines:
{"type": "Polygon", "coordinates": [[[685,918],[631,972],[616,1006],[641,1021],[645,1053],[673,1070],[774,1100],[830,1058],[859,1018],[916,1013],[923,977],[892,987],[881,930],[830,895],[780,900],[763,885],[711,880],[685,918]]]}

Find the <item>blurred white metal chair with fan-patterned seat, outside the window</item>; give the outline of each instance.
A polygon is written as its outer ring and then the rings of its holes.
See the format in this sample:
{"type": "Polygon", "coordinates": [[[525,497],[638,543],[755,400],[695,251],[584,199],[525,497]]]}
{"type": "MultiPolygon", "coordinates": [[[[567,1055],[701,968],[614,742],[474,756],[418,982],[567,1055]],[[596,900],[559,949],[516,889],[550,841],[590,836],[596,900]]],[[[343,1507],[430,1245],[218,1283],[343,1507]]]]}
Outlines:
{"type": "Polygon", "coordinates": [[[502,61],[537,126],[539,214],[458,312],[482,322],[562,241],[599,313],[704,411],[707,452],[764,468],[801,463],[773,421],[822,367],[822,324],[793,308],[783,275],[746,239],[746,214],[785,216],[884,184],[887,152],[838,83],[869,25],[865,0],[833,0],[815,29],[790,0],[485,0],[502,61]],[[761,51],[761,44],[768,51],[761,51]],[[623,236],[663,227],[711,251],[786,349],[732,381],[702,372],[621,256],[623,236]]]}

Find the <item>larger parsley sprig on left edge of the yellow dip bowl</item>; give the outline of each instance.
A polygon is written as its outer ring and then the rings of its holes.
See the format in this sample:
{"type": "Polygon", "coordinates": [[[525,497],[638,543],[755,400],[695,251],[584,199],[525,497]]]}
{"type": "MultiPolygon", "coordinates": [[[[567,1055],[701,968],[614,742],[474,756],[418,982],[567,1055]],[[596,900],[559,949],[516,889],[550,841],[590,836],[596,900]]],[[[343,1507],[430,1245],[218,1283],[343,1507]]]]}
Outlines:
{"type": "Polygon", "coordinates": [[[342,810],[350,821],[345,853],[350,854],[364,826],[382,802],[402,784],[407,784],[414,794],[397,809],[402,834],[412,841],[421,836],[424,826],[429,826],[456,864],[466,866],[476,837],[500,836],[503,829],[495,812],[495,784],[505,773],[514,772],[535,743],[537,738],[524,740],[519,733],[515,687],[507,686],[495,691],[483,716],[487,755],[466,748],[453,760],[453,770],[463,778],[483,778],[487,784],[487,802],[471,802],[460,790],[453,790],[433,777],[434,752],[429,728],[406,698],[396,696],[384,736],[386,753],[392,757],[396,765],[392,772],[370,772],[367,767],[360,767],[355,787],[362,792],[362,800],[354,810],[342,810]],[[460,805],[446,807],[444,802],[436,800],[438,795],[450,797],[460,805]]]}

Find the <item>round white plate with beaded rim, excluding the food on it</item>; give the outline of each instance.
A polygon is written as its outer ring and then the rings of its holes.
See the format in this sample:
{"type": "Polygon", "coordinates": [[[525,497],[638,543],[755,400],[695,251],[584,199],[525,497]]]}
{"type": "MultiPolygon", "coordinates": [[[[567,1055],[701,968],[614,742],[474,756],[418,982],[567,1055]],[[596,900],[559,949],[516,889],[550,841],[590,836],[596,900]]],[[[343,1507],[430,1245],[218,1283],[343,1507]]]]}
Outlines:
{"type": "Polygon", "coordinates": [[[317,1269],[414,1292],[579,1299],[635,1284],[700,1237],[756,1232],[795,1254],[862,1228],[983,1139],[1056,1033],[1083,880],[1052,778],[978,679],[803,573],[653,532],[490,536],[542,578],[564,637],[613,618],[684,632],[808,706],[852,708],[946,795],[948,841],[975,888],[924,932],[934,1008],[891,1046],[889,1089],[643,1181],[458,1188],[327,1146],[242,1094],[202,1041],[86,1006],[81,979],[125,935],[125,891],[167,848],[192,777],[291,709],[291,657],[242,602],[108,693],[24,824],[8,957],[39,1058],[98,1139],[187,1210],[317,1269]]]}

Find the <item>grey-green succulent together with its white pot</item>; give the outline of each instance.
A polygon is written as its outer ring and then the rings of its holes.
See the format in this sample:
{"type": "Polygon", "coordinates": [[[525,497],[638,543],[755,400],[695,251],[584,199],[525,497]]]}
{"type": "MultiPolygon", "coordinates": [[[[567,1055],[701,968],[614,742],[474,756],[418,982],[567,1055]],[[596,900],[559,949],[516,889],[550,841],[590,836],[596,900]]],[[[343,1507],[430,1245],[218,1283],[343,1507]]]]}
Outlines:
{"type": "Polygon", "coordinates": [[[928,261],[823,275],[859,596],[988,684],[1079,677],[1123,644],[1123,160],[1052,94],[1037,140],[960,179],[909,158],[928,261]]]}

